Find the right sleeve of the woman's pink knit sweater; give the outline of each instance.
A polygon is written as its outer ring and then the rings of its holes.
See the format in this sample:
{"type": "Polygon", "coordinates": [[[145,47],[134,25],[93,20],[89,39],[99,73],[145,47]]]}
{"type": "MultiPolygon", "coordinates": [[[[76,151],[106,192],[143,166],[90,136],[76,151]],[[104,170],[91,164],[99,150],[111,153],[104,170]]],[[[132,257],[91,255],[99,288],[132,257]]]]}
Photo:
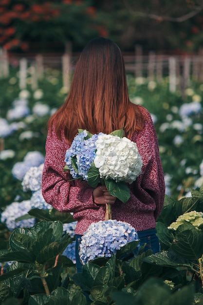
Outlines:
{"type": "Polygon", "coordinates": [[[140,176],[130,186],[131,200],[140,211],[154,210],[154,218],[157,219],[164,204],[165,180],[157,134],[146,109],[145,116],[143,131],[132,137],[142,156],[143,167],[140,176]]]}

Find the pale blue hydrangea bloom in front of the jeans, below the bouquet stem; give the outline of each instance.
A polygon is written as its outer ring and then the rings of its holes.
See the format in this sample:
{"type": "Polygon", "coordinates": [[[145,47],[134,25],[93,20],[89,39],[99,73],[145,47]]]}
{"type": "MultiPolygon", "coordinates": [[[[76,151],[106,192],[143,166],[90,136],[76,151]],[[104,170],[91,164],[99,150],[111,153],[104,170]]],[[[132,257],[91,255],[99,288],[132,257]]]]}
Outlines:
{"type": "Polygon", "coordinates": [[[138,240],[137,231],[126,222],[99,221],[92,223],[82,236],[79,256],[87,264],[95,257],[111,257],[127,243],[138,240]]]}

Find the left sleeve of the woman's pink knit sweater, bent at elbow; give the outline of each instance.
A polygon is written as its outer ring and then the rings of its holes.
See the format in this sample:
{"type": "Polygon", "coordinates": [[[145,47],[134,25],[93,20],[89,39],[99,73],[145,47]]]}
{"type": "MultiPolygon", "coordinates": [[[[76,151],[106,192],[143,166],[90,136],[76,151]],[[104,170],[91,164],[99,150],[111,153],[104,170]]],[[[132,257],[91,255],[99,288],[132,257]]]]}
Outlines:
{"type": "Polygon", "coordinates": [[[72,180],[69,172],[63,172],[65,154],[69,148],[64,136],[62,140],[59,140],[54,130],[49,130],[42,172],[43,197],[47,203],[59,211],[75,213],[90,208],[98,209],[98,206],[93,203],[93,189],[88,183],[72,180]]]}

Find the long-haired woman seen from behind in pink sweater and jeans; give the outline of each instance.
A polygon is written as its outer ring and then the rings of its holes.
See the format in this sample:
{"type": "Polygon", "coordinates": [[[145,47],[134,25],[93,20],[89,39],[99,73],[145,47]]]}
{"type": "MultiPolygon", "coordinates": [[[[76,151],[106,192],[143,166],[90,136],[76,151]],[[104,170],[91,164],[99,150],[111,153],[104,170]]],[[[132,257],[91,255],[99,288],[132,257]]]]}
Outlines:
{"type": "Polygon", "coordinates": [[[95,38],[86,45],[76,63],[69,95],[49,121],[42,193],[55,209],[74,213],[78,272],[78,243],[92,222],[105,220],[106,203],[111,204],[112,219],[128,222],[142,244],[147,242],[154,253],[159,251],[155,226],[165,183],[157,135],[147,109],[129,101],[124,60],[110,39],[95,38]],[[105,186],[93,189],[86,181],[70,181],[70,173],[63,172],[66,150],[78,129],[94,134],[123,127],[143,161],[142,173],[129,185],[126,204],[111,196],[105,186]]]}

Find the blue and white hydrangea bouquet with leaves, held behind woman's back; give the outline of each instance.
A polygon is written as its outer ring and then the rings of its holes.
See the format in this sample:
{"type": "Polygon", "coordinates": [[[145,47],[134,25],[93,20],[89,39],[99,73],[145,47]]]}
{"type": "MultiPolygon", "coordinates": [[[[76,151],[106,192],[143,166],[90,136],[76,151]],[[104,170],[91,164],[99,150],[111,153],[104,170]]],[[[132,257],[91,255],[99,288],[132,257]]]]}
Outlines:
{"type": "Polygon", "coordinates": [[[78,130],[66,152],[64,171],[74,179],[84,179],[93,188],[104,182],[112,196],[126,203],[129,187],[141,173],[142,158],[136,143],[124,137],[123,130],[92,134],[78,130]]]}

